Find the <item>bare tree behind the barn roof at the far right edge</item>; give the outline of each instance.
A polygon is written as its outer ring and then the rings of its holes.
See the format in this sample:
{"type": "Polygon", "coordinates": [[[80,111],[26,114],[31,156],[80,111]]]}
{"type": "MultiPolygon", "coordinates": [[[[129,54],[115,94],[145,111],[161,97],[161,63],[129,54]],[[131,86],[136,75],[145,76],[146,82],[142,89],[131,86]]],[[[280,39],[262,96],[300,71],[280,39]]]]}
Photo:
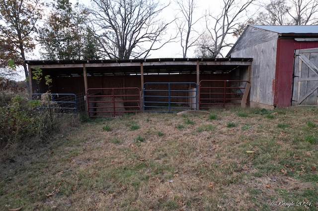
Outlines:
{"type": "Polygon", "coordinates": [[[288,14],[294,25],[318,24],[318,0],[289,0],[291,9],[288,14]]]}

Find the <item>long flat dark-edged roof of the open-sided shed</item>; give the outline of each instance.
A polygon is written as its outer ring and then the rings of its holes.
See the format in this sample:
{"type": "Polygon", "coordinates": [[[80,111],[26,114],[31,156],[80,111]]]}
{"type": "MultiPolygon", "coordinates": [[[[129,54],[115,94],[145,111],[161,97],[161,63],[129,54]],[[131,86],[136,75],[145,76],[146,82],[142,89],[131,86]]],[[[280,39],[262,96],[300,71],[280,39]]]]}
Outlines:
{"type": "Polygon", "coordinates": [[[251,65],[252,58],[146,58],[123,60],[27,60],[30,68],[46,69],[56,76],[81,76],[83,67],[87,74],[132,75],[144,74],[194,74],[196,65],[200,73],[229,73],[240,66],[251,65]]]}

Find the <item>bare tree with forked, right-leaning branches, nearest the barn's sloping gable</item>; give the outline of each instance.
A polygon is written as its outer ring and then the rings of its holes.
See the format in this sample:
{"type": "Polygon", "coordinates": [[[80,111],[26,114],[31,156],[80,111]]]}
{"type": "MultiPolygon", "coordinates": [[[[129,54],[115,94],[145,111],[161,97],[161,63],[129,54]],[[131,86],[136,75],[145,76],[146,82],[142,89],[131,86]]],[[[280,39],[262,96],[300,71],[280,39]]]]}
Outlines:
{"type": "Polygon", "coordinates": [[[226,38],[237,31],[239,19],[246,15],[247,7],[255,0],[223,0],[222,11],[219,15],[208,13],[205,18],[206,38],[205,44],[199,44],[201,49],[210,52],[212,57],[223,56],[221,50],[233,44],[226,38]]]}

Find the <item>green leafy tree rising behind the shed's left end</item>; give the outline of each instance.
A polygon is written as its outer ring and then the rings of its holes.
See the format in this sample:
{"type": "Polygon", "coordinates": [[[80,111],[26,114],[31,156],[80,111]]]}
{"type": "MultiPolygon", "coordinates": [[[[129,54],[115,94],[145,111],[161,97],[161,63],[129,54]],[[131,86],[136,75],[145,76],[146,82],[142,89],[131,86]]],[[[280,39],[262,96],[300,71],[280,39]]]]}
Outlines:
{"type": "MultiPolygon", "coordinates": [[[[94,37],[87,38],[88,29],[85,26],[87,12],[79,3],[75,6],[69,0],[57,0],[52,3],[53,10],[40,29],[39,41],[49,60],[83,59],[86,49],[85,40],[94,42],[94,37]]],[[[89,49],[90,54],[96,53],[89,49]]]]}

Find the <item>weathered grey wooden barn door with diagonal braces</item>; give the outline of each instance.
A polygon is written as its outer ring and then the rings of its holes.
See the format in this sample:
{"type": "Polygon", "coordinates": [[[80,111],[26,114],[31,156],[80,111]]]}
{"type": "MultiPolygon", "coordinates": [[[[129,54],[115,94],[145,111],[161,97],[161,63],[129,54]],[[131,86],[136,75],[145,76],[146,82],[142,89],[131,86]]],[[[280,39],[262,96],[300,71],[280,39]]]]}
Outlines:
{"type": "Polygon", "coordinates": [[[292,106],[318,106],[318,48],[295,51],[292,106]]]}

